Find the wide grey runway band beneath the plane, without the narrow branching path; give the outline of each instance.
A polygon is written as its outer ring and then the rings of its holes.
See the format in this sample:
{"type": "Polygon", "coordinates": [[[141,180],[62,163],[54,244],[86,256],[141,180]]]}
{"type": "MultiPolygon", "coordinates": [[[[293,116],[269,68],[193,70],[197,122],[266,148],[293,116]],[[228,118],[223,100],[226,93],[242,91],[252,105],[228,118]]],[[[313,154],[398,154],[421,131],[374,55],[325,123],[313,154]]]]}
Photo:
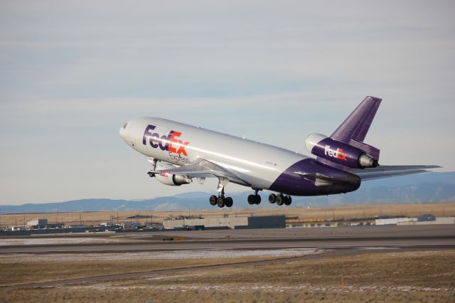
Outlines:
{"type": "MultiPolygon", "coordinates": [[[[73,238],[92,236],[85,234],[66,235],[66,237],[73,238]]],[[[455,248],[455,225],[199,230],[109,235],[97,234],[97,237],[115,238],[122,240],[122,242],[0,245],[0,254],[146,252],[166,250],[278,250],[286,248],[317,248],[320,250],[339,248],[443,249],[455,248]]],[[[37,239],[37,237],[33,236],[31,238],[37,239]]],[[[44,239],[43,242],[45,242],[44,239]]]]}

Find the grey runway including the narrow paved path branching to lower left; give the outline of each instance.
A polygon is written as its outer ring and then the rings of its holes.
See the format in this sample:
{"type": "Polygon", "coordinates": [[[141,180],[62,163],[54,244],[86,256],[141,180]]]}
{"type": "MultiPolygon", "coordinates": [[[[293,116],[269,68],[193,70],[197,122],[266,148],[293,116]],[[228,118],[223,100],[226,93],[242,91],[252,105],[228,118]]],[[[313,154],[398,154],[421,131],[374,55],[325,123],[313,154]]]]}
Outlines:
{"type": "MultiPolygon", "coordinates": [[[[61,235],[59,236],[62,237],[61,235]]],[[[93,235],[66,235],[70,238],[93,235]]],[[[378,252],[404,252],[413,250],[454,250],[455,226],[368,226],[351,228],[294,228],[279,230],[207,230],[156,233],[125,233],[96,235],[97,238],[121,238],[119,243],[65,243],[39,245],[0,245],[0,255],[50,255],[77,253],[122,253],[171,251],[232,251],[232,250],[287,250],[290,248],[314,250],[314,254],[279,256],[274,260],[237,262],[223,265],[174,268],[129,272],[118,275],[101,275],[51,282],[26,283],[0,287],[2,290],[55,287],[87,282],[121,280],[150,275],[217,270],[229,267],[265,265],[274,262],[292,262],[319,258],[343,257],[378,252]],[[170,240],[174,239],[174,240],[170,240]],[[178,239],[178,241],[176,241],[178,239]]],[[[45,240],[45,237],[43,240],[45,240]]],[[[36,237],[34,237],[36,240],[36,237]]],[[[55,256],[55,255],[54,255],[55,256]]]]}

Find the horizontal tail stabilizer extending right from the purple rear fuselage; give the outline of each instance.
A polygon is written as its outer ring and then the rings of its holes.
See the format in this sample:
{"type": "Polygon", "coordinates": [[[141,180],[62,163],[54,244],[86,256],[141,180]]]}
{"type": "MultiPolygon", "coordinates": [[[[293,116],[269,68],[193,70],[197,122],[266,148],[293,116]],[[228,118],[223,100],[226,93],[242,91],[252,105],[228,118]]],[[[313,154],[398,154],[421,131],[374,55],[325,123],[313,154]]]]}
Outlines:
{"type": "Polygon", "coordinates": [[[409,174],[424,173],[427,169],[438,169],[441,166],[437,165],[390,165],[390,166],[377,166],[370,169],[354,169],[353,173],[360,176],[362,181],[374,180],[381,178],[389,178],[392,176],[402,176],[409,174]]]}

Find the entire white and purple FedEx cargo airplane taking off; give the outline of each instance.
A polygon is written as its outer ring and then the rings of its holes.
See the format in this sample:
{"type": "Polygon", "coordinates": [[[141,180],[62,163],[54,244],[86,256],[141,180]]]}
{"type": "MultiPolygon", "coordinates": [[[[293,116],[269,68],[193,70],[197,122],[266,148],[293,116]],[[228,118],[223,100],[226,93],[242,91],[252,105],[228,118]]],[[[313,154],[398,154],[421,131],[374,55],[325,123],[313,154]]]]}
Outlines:
{"type": "Polygon", "coordinates": [[[327,137],[310,134],[306,149],[316,159],[294,151],[262,144],[229,134],[213,132],[168,119],[141,117],[120,128],[120,136],[130,147],[149,156],[147,173],[170,186],[189,184],[196,179],[218,178],[218,195],[211,205],[231,207],[225,196],[231,182],[252,188],[250,204],[261,203],[258,192],[274,191],[270,203],[290,205],[291,196],[319,196],[348,193],[362,181],[417,174],[440,166],[380,166],[380,150],[365,144],[381,99],[366,97],[327,137]]]}

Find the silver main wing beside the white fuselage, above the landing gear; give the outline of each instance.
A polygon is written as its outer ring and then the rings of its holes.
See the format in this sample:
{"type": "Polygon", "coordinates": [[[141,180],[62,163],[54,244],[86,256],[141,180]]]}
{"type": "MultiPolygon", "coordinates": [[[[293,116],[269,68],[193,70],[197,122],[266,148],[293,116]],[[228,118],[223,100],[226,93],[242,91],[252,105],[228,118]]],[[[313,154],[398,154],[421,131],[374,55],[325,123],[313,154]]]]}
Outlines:
{"type": "Polygon", "coordinates": [[[205,159],[198,159],[192,164],[186,164],[171,169],[161,169],[157,171],[149,171],[150,173],[166,172],[169,174],[181,174],[191,178],[214,178],[222,177],[227,178],[232,183],[250,186],[249,183],[242,180],[238,174],[229,167],[223,164],[215,164],[212,161],[205,159]]]}

